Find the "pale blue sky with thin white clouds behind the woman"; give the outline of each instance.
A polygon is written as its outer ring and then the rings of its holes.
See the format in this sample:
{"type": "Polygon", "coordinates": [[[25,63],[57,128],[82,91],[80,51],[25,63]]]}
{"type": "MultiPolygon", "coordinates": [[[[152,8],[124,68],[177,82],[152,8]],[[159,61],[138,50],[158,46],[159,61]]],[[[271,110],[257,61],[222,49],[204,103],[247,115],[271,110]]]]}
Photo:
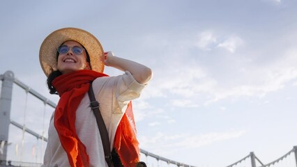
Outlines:
{"type": "MultiPolygon", "coordinates": [[[[40,44],[56,29],[85,29],[105,51],[154,72],[133,102],[144,150],[208,167],[228,166],[254,152],[266,164],[297,145],[296,5],[296,0],[1,1],[0,74],[11,70],[57,102],[45,85],[40,44]]],[[[109,67],[105,72],[121,74],[109,67]]],[[[13,91],[10,118],[36,132],[46,130],[53,109],[30,95],[26,102],[17,86],[13,91]]],[[[22,132],[11,126],[10,134],[9,157],[20,159],[14,149],[17,143],[20,148],[22,132]]],[[[34,144],[40,150],[40,141],[25,138],[31,142],[27,152],[34,144]]]]}

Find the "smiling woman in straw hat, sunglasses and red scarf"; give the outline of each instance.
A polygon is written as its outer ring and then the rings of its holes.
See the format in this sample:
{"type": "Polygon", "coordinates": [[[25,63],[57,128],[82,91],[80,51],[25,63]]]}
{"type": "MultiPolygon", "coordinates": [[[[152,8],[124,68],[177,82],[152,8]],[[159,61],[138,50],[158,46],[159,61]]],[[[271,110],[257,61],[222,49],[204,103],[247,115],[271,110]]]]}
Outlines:
{"type": "Polygon", "coordinates": [[[107,166],[96,118],[89,106],[90,83],[100,103],[110,147],[119,154],[123,166],[135,166],[139,161],[135,133],[118,127],[130,124],[125,111],[151,79],[151,69],[111,52],[104,54],[91,33],[75,28],[48,35],[39,57],[50,93],[60,96],[50,121],[43,166],[107,166]],[[102,73],[105,65],[124,74],[108,77],[102,73]],[[118,140],[124,134],[130,135],[129,145],[118,140]]]}

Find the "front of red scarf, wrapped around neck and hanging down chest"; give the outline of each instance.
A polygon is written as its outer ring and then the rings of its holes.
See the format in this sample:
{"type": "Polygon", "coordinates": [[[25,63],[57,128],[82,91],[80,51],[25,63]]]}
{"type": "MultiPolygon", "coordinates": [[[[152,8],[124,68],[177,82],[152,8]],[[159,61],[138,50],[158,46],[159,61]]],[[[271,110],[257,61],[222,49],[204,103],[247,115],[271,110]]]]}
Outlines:
{"type": "Polygon", "coordinates": [[[90,82],[98,77],[106,76],[106,74],[92,70],[79,70],[62,74],[52,81],[52,85],[60,96],[54,113],[54,126],[72,167],[89,166],[86,146],[79,140],[75,129],[77,106],[89,90],[90,82]]]}

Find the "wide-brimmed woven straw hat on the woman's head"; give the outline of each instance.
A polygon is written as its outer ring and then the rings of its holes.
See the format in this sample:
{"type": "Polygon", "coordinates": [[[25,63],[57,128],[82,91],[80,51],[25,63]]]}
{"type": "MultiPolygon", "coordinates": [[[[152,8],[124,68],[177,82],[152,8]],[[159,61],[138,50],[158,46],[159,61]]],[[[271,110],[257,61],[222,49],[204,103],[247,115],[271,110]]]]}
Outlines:
{"type": "Polygon", "coordinates": [[[67,40],[74,40],[84,46],[90,56],[91,69],[96,72],[103,72],[104,51],[97,38],[82,29],[64,28],[52,32],[40,46],[39,61],[47,77],[52,71],[58,70],[56,49],[67,40]]]}

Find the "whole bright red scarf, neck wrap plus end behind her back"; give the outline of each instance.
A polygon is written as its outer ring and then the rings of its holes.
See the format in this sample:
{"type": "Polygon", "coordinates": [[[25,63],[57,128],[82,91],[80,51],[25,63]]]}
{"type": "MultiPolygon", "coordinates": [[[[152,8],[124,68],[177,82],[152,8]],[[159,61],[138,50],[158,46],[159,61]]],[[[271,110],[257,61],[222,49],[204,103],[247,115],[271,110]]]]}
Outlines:
{"type": "MultiPolygon", "coordinates": [[[[89,90],[90,82],[98,77],[107,77],[107,75],[93,70],[79,70],[62,74],[52,81],[52,85],[60,95],[54,113],[54,126],[72,167],[89,166],[86,146],[79,140],[76,133],[75,118],[77,107],[89,90]]],[[[136,138],[131,103],[129,103],[118,129],[116,129],[114,148],[124,166],[135,166],[136,162],[139,161],[140,149],[136,138]]]]}

